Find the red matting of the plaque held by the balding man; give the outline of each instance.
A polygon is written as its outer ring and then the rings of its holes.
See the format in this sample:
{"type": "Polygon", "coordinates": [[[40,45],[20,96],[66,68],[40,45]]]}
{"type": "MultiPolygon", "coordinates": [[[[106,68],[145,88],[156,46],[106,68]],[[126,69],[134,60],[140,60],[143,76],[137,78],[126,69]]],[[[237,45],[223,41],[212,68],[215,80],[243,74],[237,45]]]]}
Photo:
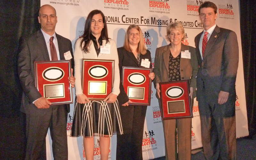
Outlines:
{"type": "Polygon", "coordinates": [[[35,82],[36,88],[40,94],[44,97],[44,85],[46,84],[64,84],[64,97],[50,98],[48,99],[52,104],[70,104],[73,103],[72,87],[68,83],[68,77],[71,75],[71,61],[70,60],[58,60],[58,61],[37,61],[35,62],[35,82]],[[59,80],[47,80],[43,74],[45,70],[50,68],[60,68],[64,72],[64,75],[59,80]]]}

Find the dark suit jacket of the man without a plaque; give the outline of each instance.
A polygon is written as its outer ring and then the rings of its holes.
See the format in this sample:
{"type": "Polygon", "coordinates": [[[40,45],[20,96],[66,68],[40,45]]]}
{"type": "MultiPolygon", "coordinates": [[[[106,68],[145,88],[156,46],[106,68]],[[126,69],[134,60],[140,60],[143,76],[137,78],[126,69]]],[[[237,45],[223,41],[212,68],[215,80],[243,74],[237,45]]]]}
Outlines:
{"type": "Polygon", "coordinates": [[[236,100],[235,83],[239,59],[236,33],[216,26],[205,47],[203,60],[199,51],[202,33],[195,37],[196,56],[199,64],[197,99],[206,98],[208,101],[217,103],[219,92],[224,91],[229,92],[228,102],[234,102],[236,100]],[[202,94],[203,85],[206,91],[204,95],[202,94]]]}

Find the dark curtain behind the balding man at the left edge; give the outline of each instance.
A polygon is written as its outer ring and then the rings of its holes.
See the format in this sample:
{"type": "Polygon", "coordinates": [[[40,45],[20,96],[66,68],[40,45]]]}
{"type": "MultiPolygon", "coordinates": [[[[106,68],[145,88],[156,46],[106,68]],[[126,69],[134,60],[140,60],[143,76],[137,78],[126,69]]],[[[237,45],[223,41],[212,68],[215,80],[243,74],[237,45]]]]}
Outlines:
{"type": "Polygon", "coordinates": [[[21,36],[39,29],[40,0],[0,1],[0,159],[23,159],[25,116],[20,110],[22,90],[16,72],[21,36]]]}

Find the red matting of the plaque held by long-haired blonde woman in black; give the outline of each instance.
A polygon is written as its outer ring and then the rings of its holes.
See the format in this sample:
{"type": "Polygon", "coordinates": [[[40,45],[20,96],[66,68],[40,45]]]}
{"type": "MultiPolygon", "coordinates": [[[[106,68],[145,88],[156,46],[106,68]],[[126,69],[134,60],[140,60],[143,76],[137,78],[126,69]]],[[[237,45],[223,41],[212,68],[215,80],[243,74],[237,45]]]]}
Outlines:
{"type": "Polygon", "coordinates": [[[124,86],[124,91],[128,95],[128,87],[143,87],[144,90],[144,99],[130,99],[132,103],[129,104],[138,104],[150,106],[151,101],[151,84],[152,81],[148,77],[148,74],[152,73],[152,68],[137,68],[137,67],[123,67],[122,69],[122,84],[124,86]],[[133,84],[128,80],[129,75],[133,73],[140,73],[145,76],[145,82],[143,84],[133,84]]]}

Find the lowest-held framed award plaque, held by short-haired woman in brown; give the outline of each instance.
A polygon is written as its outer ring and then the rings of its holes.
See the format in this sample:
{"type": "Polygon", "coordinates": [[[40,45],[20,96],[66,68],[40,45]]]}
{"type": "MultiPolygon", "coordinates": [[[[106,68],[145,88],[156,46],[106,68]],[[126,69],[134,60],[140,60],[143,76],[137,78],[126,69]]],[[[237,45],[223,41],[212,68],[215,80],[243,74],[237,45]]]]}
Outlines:
{"type": "Polygon", "coordinates": [[[193,117],[188,80],[161,82],[159,85],[163,120],[193,117]]]}

